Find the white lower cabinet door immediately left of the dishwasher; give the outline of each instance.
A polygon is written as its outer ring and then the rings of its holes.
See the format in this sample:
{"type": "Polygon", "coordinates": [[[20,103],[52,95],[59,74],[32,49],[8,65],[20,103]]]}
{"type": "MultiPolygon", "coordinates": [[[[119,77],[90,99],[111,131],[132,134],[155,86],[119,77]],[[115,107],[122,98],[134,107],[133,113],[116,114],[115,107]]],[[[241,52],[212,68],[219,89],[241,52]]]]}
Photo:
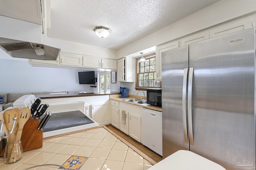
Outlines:
{"type": "Polygon", "coordinates": [[[129,136],[141,142],[141,116],[129,113],[129,136]]]}

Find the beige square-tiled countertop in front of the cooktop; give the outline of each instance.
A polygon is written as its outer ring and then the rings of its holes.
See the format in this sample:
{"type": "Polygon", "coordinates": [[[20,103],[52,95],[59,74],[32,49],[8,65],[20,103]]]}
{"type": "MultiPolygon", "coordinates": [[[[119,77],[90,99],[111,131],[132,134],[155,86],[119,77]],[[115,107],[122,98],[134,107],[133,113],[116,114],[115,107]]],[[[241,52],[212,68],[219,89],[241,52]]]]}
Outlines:
{"type": "MultiPolygon", "coordinates": [[[[104,127],[43,141],[43,147],[23,153],[20,161],[5,164],[0,157],[0,170],[23,170],[35,165],[62,165],[70,156],[88,157],[80,170],[146,170],[152,165],[104,127]]],[[[31,170],[57,170],[41,166],[31,170]]]]}

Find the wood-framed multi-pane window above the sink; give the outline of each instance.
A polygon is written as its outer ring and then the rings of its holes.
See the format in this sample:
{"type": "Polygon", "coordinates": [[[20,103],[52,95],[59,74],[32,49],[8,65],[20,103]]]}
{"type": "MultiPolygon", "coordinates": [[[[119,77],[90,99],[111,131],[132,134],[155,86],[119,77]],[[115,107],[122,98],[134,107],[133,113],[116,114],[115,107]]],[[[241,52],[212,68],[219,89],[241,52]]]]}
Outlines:
{"type": "Polygon", "coordinates": [[[138,63],[140,57],[136,58],[136,90],[156,87],[156,53],[143,57],[145,63],[138,63]]]}

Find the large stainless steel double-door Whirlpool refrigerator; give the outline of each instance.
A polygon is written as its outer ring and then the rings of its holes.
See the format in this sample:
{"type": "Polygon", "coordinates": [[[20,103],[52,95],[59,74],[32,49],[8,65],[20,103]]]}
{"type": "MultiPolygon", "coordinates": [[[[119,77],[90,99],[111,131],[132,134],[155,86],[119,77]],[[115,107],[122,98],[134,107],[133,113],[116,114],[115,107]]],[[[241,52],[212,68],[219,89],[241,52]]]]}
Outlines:
{"type": "Polygon", "coordinates": [[[255,169],[255,48],[251,28],[162,52],[163,158],[255,169]]]}

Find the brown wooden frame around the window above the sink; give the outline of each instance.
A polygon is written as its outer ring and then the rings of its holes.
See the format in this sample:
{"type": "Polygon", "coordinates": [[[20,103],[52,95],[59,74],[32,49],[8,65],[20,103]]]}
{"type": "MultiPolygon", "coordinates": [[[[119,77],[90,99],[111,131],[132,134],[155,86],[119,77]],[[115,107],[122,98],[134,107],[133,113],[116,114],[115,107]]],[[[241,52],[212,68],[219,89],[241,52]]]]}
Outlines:
{"type": "MultiPolygon", "coordinates": [[[[156,53],[152,53],[152,54],[149,54],[149,55],[145,55],[145,56],[143,56],[145,59],[149,59],[149,58],[155,58],[155,68],[156,68],[156,53]]],[[[135,72],[136,72],[136,76],[135,76],[135,78],[136,78],[136,83],[135,83],[135,89],[136,90],[142,90],[142,91],[146,91],[147,89],[149,89],[149,88],[155,88],[155,87],[139,87],[138,86],[138,84],[139,84],[139,80],[138,80],[138,78],[139,78],[139,70],[140,70],[140,64],[138,63],[138,61],[139,61],[139,59],[141,58],[141,56],[140,57],[137,57],[136,58],[136,60],[135,60],[135,62],[136,62],[136,66],[135,66],[135,68],[136,68],[136,70],[135,70],[135,72]]],[[[155,73],[156,73],[156,70],[155,70],[155,73]]],[[[162,84],[161,84],[161,82],[160,82],[160,87],[158,87],[158,88],[161,88],[162,87],[162,84]]]]}

